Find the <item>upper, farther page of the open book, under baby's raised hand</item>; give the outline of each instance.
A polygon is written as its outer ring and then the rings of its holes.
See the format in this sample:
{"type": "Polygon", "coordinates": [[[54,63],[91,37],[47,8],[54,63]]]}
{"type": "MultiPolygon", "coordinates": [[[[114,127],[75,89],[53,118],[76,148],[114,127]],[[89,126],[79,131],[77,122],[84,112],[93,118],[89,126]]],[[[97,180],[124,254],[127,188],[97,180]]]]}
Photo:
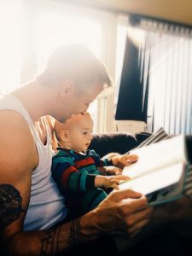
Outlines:
{"type": "Polygon", "coordinates": [[[138,160],[131,166],[125,166],[123,175],[131,178],[139,177],[166,166],[186,162],[184,147],[184,136],[180,135],[143,148],[131,150],[130,154],[137,154],[138,160]]]}

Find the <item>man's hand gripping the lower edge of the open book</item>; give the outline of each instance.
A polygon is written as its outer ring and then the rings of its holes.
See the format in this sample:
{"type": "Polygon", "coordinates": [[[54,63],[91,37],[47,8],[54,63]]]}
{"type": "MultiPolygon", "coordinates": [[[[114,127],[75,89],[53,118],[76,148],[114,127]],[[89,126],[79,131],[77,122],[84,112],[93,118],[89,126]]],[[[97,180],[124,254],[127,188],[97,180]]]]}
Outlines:
{"type": "MultiPolygon", "coordinates": [[[[113,190],[96,209],[86,214],[86,218],[91,219],[92,236],[94,233],[135,236],[148,224],[150,214],[146,197],[125,189],[113,190]]],[[[81,225],[86,224],[87,219],[83,217],[81,225]]]]}

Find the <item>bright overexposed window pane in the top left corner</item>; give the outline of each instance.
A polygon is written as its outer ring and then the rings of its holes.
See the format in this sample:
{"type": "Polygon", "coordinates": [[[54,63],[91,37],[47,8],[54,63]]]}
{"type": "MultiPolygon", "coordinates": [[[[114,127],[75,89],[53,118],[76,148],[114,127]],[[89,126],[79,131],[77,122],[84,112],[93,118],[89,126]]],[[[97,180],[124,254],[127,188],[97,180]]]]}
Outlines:
{"type": "Polygon", "coordinates": [[[0,94],[20,84],[21,0],[0,3],[0,94]]]}

